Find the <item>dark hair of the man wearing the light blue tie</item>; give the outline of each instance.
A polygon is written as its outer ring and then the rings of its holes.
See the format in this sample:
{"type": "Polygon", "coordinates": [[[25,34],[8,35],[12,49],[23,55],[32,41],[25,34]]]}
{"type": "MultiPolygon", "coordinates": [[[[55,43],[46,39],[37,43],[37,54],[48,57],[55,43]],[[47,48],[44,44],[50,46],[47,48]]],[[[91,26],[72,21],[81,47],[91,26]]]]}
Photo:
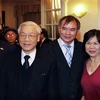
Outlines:
{"type": "Polygon", "coordinates": [[[68,16],[62,17],[62,18],[59,20],[59,22],[58,22],[58,26],[61,25],[61,23],[62,23],[63,20],[65,20],[65,24],[68,24],[68,23],[70,23],[71,21],[75,21],[76,24],[77,24],[77,29],[78,29],[78,30],[80,29],[80,21],[79,21],[77,18],[75,18],[74,16],[68,15],[68,16]]]}

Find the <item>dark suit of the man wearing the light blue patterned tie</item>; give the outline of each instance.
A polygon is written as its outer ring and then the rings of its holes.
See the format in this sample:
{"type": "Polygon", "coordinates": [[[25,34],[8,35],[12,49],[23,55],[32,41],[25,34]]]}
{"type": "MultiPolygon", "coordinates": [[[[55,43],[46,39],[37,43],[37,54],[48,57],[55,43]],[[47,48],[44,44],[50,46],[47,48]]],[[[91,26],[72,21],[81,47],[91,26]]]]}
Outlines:
{"type": "Polygon", "coordinates": [[[72,65],[69,68],[62,50],[54,40],[50,43],[49,53],[57,60],[60,100],[80,100],[80,79],[83,71],[82,43],[75,39],[72,65]]]}

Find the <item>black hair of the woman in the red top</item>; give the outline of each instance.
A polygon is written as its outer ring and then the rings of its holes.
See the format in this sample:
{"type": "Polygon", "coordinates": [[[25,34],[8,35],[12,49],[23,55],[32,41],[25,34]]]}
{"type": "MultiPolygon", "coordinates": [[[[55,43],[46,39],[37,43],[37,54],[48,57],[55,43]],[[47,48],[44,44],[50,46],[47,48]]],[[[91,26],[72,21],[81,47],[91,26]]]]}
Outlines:
{"type": "Polygon", "coordinates": [[[96,30],[96,29],[91,29],[89,31],[87,31],[85,34],[84,34],[84,39],[83,39],[83,53],[85,55],[86,58],[89,58],[89,55],[86,53],[85,51],[85,44],[86,42],[92,38],[96,36],[97,37],[97,40],[98,42],[100,43],[100,30],[96,30]]]}

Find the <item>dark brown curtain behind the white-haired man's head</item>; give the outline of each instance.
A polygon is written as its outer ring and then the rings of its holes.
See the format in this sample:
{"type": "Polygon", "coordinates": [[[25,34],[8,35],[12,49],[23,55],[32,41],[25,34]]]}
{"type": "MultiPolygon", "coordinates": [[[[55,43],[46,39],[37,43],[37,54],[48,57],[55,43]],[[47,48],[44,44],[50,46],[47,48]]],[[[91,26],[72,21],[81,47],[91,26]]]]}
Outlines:
{"type": "Polygon", "coordinates": [[[15,6],[15,17],[17,27],[24,21],[34,21],[37,24],[41,23],[41,7],[40,4],[32,5],[16,5],[15,6]]]}

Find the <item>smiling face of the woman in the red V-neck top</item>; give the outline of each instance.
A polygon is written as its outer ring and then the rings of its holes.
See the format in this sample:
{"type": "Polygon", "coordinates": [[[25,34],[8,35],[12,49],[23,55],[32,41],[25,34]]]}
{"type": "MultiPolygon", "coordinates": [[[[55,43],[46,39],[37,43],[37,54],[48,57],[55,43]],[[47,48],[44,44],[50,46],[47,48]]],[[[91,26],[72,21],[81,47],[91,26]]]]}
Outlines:
{"type": "Polygon", "coordinates": [[[90,38],[85,44],[86,52],[91,57],[100,56],[100,43],[98,42],[96,36],[90,38]]]}

